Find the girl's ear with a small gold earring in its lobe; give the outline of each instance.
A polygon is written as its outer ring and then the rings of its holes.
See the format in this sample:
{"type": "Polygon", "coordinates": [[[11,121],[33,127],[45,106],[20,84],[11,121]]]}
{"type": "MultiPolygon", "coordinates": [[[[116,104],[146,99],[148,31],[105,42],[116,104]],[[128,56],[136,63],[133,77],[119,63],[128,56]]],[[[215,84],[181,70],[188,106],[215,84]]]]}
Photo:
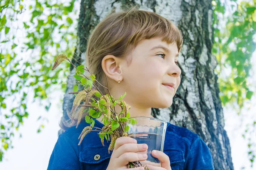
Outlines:
{"type": "Polygon", "coordinates": [[[102,59],[103,71],[109,78],[113,79],[116,82],[118,82],[119,79],[120,81],[122,79],[122,71],[120,69],[119,64],[120,64],[120,59],[113,55],[106,55],[102,59]]]}

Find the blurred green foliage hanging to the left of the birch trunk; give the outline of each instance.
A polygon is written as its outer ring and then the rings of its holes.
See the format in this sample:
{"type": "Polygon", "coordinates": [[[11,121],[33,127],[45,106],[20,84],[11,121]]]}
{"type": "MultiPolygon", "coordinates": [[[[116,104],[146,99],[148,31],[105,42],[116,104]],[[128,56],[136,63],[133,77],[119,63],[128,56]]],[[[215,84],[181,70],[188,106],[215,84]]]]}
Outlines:
{"type": "MultiPolygon", "coordinates": [[[[28,96],[40,105],[44,101],[48,111],[48,94],[66,90],[70,63],[51,68],[57,54],[73,56],[78,11],[73,10],[75,0],[63,1],[0,0],[0,161],[29,116],[28,96]]],[[[38,117],[38,133],[43,118],[38,117]]]]}

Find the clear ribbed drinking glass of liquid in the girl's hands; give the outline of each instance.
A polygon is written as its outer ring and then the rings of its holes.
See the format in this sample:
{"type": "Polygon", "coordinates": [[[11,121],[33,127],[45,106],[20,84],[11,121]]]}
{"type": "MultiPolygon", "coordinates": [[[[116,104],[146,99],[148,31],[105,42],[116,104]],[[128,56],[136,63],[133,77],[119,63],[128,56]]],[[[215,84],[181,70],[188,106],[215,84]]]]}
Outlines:
{"type": "Polygon", "coordinates": [[[142,164],[159,164],[160,161],[151,155],[151,151],[160,150],[163,152],[167,123],[160,119],[141,116],[129,118],[127,125],[129,126],[129,137],[136,139],[138,144],[148,145],[148,159],[144,163],[143,161],[140,162],[142,164]]]}

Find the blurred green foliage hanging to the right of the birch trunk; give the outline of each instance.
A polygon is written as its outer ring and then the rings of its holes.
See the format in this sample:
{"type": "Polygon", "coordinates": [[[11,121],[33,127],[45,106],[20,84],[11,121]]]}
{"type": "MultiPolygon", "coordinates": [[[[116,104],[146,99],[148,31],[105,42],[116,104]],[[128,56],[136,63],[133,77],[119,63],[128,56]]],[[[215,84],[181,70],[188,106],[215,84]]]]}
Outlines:
{"type": "MultiPolygon", "coordinates": [[[[256,0],[212,1],[214,43],[212,54],[217,57],[220,98],[224,106],[233,106],[238,114],[255,93],[250,85],[252,53],[256,48],[256,0]],[[251,87],[251,88],[249,88],[251,87]]],[[[254,88],[254,89],[253,89],[254,88]]],[[[250,135],[255,134],[255,124],[247,125],[248,156],[253,166],[255,153],[250,135]]],[[[245,134],[243,135],[245,138],[245,134]]]]}

